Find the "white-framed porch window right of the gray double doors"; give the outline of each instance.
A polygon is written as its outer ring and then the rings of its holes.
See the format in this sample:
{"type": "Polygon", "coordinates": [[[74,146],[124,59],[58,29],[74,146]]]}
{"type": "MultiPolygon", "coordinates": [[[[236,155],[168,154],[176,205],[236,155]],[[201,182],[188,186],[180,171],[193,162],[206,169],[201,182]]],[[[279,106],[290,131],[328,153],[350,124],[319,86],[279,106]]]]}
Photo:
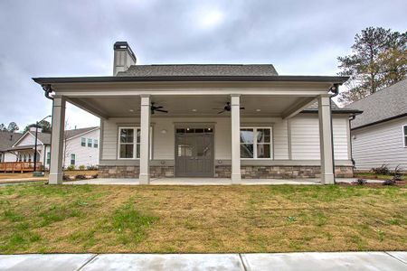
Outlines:
{"type": "Polygon", "coordinates": [[[241,158],[271,159],[271,128],[241,128],[241,158]]]}

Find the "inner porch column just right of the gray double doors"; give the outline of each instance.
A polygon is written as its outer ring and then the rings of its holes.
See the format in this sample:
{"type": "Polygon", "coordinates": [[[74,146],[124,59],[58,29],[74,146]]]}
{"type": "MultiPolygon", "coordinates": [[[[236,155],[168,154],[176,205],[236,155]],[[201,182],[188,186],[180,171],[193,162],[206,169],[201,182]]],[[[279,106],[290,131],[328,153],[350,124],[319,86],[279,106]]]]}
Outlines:
{"type": "Polygon", "coordinates": [[[231,95],[232,183],[241,182],[241,97],[231,95]]]}

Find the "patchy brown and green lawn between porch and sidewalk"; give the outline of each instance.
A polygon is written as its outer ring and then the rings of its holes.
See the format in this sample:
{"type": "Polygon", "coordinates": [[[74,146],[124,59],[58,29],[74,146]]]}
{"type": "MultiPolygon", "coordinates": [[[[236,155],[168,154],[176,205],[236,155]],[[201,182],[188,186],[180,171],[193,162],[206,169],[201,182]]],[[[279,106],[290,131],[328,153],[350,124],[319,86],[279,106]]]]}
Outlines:
{"type": "Polygon", "coordinates": [[[0,187],[0,253],[406,250],[407,187],[0,187]]]}

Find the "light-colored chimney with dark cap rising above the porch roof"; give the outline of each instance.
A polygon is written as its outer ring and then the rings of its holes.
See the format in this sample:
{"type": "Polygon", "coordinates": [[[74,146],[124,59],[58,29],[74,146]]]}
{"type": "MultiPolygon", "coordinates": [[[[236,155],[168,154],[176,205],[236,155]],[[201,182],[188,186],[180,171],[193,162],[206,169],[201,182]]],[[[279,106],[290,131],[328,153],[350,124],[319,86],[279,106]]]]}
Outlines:
{"type": "Polygon", "coordinates": [[[131,50],[128,42],[115,42],[113,45],[115,52],[113,60],[113,75],[118,75],[118,72],[128,70],[131,65],[136,65],[137,58],[131,50]]]}

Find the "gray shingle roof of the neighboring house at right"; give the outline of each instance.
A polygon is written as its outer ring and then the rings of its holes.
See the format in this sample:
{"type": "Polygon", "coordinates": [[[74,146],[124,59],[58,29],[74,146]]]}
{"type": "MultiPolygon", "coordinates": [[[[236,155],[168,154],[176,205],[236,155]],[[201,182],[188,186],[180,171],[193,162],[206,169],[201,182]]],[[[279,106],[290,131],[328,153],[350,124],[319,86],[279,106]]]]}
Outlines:
{"type": "Polygon", "coordinates": [[[352,121],[352,128],[407,114],[407,79],[355,101],[345,108],[364,111],[352,121]]]}

